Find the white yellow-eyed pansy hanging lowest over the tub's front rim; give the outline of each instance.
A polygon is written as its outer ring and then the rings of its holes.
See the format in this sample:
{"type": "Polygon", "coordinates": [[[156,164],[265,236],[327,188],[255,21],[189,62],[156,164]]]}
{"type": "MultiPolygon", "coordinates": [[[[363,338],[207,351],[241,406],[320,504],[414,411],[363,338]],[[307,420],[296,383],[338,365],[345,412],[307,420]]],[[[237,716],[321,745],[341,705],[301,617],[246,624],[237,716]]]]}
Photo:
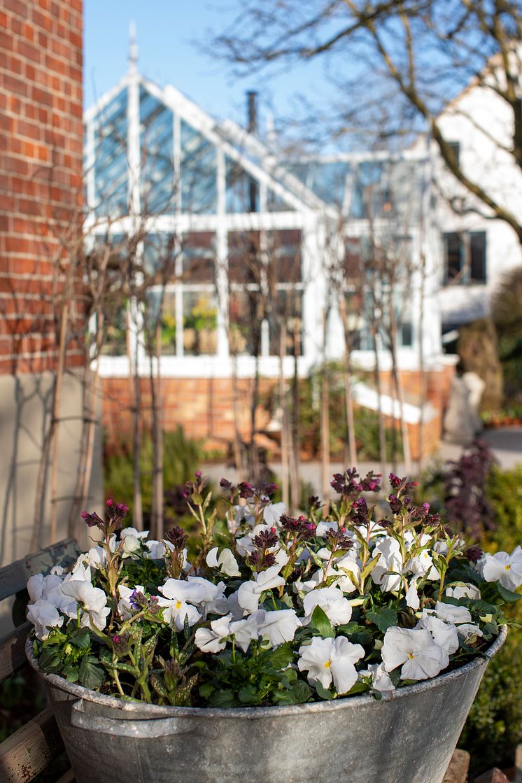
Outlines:
{"type": "Polygon", "coordinates": [[[321,639],[313,637],[310,644],[299,648],[300,658],[297,668],[308,671],[308,682],[320,682],[328,688],[332,684],[338,694],[351,690],[357,682],[355,663],[364,657],[365,651],[360,644],[351,644],[346,637],[321,639]]]}

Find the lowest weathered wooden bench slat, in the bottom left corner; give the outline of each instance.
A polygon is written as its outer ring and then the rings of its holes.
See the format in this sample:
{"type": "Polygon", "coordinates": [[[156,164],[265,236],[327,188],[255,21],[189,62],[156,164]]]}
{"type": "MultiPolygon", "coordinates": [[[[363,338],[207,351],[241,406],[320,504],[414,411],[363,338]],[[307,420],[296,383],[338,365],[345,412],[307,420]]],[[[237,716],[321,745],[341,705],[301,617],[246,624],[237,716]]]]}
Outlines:
{"type": "Polygon", "coordinates": [[[0,745],[0,781],[28,783],[63,750],[51,707],[46,707],[0,745]]]}

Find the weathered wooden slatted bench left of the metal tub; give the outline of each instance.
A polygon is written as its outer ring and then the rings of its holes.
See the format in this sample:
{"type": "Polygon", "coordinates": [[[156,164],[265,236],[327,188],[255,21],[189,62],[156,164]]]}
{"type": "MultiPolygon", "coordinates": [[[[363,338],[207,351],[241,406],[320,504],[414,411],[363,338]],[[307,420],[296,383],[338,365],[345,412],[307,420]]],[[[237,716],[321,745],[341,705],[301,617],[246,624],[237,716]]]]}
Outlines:
{"type": "MultiPolygon", "coordinates": [[[[80,549],[74,539],[66,539],[0,568],[0,601],[16,596],[13,608],[15,630],[0,639],[0,682],[28,666],[25,642],[31,623],[25,622],[21,608],[27,598],[27,579],[33,574],[49,573],[55,565],[74,562],[80,549]]],[[[63,742],[52,709],[45,707],[37,716],[0,744],[0,783],[29,783],[63,752],[63,742]]],[[[57,783],[74,781],[68,770],[57,783]]]]}

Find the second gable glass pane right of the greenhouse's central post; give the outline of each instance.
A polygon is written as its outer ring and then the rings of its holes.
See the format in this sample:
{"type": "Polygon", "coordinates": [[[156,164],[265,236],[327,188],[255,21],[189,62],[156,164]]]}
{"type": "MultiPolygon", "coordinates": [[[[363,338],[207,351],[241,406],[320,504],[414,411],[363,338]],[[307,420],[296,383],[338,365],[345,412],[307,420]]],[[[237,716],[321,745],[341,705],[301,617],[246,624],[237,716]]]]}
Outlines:
{"type": "Polygon", "coordinates": [[[181,123],[182,212],[213,214],[217,208],[218,185],[214,145],[190,125],[181,123]]]}

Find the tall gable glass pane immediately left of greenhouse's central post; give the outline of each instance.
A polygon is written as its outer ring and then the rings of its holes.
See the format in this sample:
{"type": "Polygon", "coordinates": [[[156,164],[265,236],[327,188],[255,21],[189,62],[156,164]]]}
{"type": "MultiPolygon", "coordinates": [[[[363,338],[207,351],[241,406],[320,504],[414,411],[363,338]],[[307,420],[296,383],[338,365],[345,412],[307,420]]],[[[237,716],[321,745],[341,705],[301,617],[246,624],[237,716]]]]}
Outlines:
{"type": "Polygon", "coordinates": [[[117,217],[128,213],[127,91],[95,118],[95,211],[117,217]]]}

